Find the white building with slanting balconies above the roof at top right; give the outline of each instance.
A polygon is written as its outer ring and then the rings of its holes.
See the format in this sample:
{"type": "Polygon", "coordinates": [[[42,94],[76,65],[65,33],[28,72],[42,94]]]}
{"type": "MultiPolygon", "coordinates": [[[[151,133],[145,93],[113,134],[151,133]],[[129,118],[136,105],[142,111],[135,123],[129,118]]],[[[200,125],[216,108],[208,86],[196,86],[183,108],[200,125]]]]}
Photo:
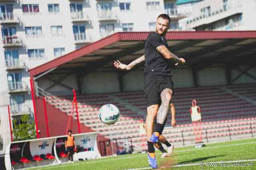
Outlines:
{"type": "Polygon", "coordinates": [[[191,14],[179,20],[183,30],[256,30],[255,0],[179,0],[177,5],[191,14]]]}

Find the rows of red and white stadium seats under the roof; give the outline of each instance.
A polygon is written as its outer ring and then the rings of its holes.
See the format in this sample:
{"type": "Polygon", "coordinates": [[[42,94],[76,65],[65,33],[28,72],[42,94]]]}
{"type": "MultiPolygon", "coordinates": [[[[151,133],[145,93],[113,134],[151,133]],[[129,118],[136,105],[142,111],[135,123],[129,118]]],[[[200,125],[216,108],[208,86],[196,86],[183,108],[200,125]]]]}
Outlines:
{"type": "MultiPolygon", "coordinates": [[[[255,133],[256,104],[246,99],[256,99],[256,84],[181,88],[175,89],[173,97],[177,127],[171,127],[171,114],[169,114],[163,131],[171,142],[176,142],[178,145],[182,145],[183,142],[185,144],[194,142],[194,129],[189,112],[193,99],[196,99],[201,107],[203,140],[213,141],[219,138],[230,140],[230,135],[246,137],[255,133]],[[230,90],[239,95],[230,93],[230,90]],[[183,140],[181,131],[185,136],[183,140]]],[[[47,101],[70,115],[72,96],[47,97],[47,101]]],[[[134,146],[143,146],[139,125],[146,119],[146,101],[142,91],[79,95],[77,102],[79,121],[85,126],[111,139],[132,138],[134,146]],[[119,121],[111,126],[104,125],[98,119],[100,107],[107,103],[116,105],[121,113],[119,121]]],[[[76,113],[73,119],[77,119],[76,113]]]]}

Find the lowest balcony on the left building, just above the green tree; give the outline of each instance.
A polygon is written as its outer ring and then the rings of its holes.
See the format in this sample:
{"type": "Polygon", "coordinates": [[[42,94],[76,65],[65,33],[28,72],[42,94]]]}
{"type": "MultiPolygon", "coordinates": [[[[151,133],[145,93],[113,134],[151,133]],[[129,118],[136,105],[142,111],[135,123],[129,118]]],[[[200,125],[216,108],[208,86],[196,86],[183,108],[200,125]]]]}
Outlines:
{"type": "Polygon", "coordinates": [[[31,103],[18,103],[10,105],[10,112],[12,116],[29,115],[31,111],[31,103]]]}

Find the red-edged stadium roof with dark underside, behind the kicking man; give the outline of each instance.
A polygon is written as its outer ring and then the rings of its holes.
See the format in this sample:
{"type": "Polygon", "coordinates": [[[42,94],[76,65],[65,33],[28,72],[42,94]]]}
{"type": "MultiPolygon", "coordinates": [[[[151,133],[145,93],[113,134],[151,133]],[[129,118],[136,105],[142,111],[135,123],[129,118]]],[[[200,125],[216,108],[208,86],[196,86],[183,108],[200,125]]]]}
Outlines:
{"type": "MultiPolygon", "coordinates": [[[[118,32],[29,70],[30,77],[53,69],[90,71],[115,59],[128,62],[143,55],[150,32],[118,32]]],[[[170,50],[188,63],[213,61],[216,56],[248,56],[256,53],[256,31],[168,32],[170,50]]],[[[222,57],[221,57],[222,58],[222,57]]]]}

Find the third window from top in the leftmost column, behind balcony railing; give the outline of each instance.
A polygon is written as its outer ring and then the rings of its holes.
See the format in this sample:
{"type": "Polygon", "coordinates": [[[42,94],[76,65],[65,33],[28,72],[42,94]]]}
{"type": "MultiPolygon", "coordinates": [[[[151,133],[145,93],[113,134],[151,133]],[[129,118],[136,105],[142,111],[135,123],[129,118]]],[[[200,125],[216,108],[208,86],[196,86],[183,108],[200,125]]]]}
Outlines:
{"type": "Polygon", "coordinates": [[[4,51],[6,67],[20,66],[18,51],[4,51]]]}

